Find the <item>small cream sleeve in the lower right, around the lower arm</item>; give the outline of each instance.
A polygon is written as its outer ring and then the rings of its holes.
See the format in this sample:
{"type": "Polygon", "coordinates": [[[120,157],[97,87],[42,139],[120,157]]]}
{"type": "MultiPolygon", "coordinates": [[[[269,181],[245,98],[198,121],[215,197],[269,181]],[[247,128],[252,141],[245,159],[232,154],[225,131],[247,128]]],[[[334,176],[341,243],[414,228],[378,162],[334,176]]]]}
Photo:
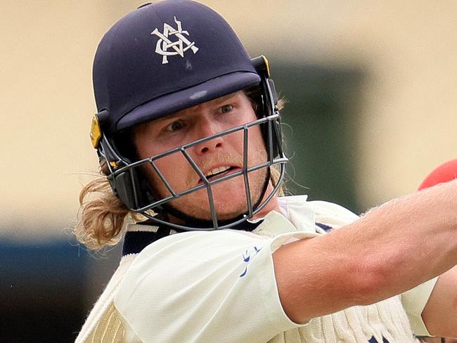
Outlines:
{"type": "Polygon", "coordinates": [[[411,328],[416,336],[432,336],[428,332],[422,319],[422,311],[432,294],[437,280],[438,278],[433,278],[401,295],[401,303],[403,304],[411,323],[411,328]]]}

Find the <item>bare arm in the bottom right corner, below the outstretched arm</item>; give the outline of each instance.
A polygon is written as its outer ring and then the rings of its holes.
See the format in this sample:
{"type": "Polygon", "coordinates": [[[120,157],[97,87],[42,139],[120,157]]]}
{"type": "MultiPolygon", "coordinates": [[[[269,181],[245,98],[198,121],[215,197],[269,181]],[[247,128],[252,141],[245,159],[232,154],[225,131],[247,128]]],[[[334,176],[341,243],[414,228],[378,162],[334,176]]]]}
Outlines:
{"type": "Polygon", "coordinates": [[[432,335],[457,336],[457,267],[439,276],[422,318],[432,335]]]}

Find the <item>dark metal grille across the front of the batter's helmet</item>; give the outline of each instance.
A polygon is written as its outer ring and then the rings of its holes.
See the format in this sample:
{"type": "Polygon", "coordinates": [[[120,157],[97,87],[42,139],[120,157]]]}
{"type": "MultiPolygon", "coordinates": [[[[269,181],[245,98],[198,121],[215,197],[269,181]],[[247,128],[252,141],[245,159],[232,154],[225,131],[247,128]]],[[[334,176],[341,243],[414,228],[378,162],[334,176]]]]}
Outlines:
{"type": "MultiPolygon", "coordinates": [[[[285,172],[284,164],[288,162],[288,159],[285,157],[281,150],[281,134],[277,132],[277,129],[279,127],[279,118],[280,117],[278,114],[270,115],[268,117],[257,119],[254,122],[250,122],[239,127],[233,127],[232,129],[221,131],[217,134],[201,138],[191,143],[186,143],[185,145],[181,145],[174,149],[167,150],[163,153],[160,153],[152,157],[148,157],[143,160],[139,160],[133,163],[124,161],[124,167],[118,168],[116,170],[111,170],[110,176],[108,177],[112,181],[112,183],[114,183],[112,184],[112,186],[115,186],[115,188],[118,189],[117,193],[120,196],[121,200],[123,200],[124,203],[126,203],[126,205],[132,211],[139,212],[144,216],[147,216],[152,221],[157,222],[158,224],[167,224],[169,226],[173,226],[174,228],[179,228],[181,230],[214,230],[219,228],[229,228],[231,226],[235,226],[236,224],[239,224],[242,221],[250,219],[252,218],[252,216],[257,214],[257,212],[259,212],[259,210],[261,210],[264,207],[264,205],[266,205],[266,203],[269,202],[269,200],[271,200],[274,193],[276,193],[279,186],[281,185],[281,181],[283,179],[283,175],[285,172]],[[264,132],[266,132],[267,145],[266,160],[259,162],[258,164],[249,166],[247,164],[247,151],[249,147],[248,130],[255,126],[265,127],[264,132]],[[219,178],[207,178],[207,176],[205,176],[205,174],[200,169],[198,164],[193,160],[193,158],[189,154],[189,150],[195,147],[196,145],[200,145],[207,141],[211,141],[214,138],[227,136],[237,132],[243,134],[243,168],[239,171],[234,171],[230,174],[225,174],[224,176],[221,176],[219,178]],[[278,139],[280,141],[278,141],[278,139]],[[269,146],[274,146],[275,148],[268,148],[269,146]],[[273,153],[273,151],[276,151],[276,153],[273,153]],[[176,154],[181,155],[183,158],[185,158],[188,164],[191,165],[193,171],[195,171],[195,173],[198,174],[201,180],[201,183],[198,186],[193,186],[186,190],[176,190],[174,189],[173,185],[170,184],[169,180],[167,180],[167,176],[165,176],[165,174],[163,174],[162,171],[160,171],[160,169],[157,167],[157,161],[176,154]],[[259,197],[259,199],[252,199],[252,185],[250,185],[248,175],[254,171],[262,169],[264,169],[265,172],[268,173],[269,168],[275,165],[281,166],[281,176],[280,180],[276,182],[273,191],[271,191],[270,194],[266,195],[266,187],[264,185],[264,190],[262,191],[262,195],[259,197]],[[144,197],[145,193],[151,194],[150,188],[147,188],[148,186],[146,186],[146,183],[139,182],[139,179],[145,178],[142,172],[145,168],[150,168],[154,171],[154,173],[157,175],[156,179],[158,180],[158,182],[162,184],[162,188],[167,189],[167,195],[162,196],[161,198],[157,198],[157,194],[153,194],[153,196],[149,198],[144,197]],[[236,219],[230,221],[220,221],[218,218],[216,205],[214,204],[212,189],[214,185],[226,182],[236,177],[243,177],[243,182],[245,186],[246,212],[242,216],[237,216],[236,219]],[[211,218],[209,221],[207,221],[206,224],[203,224],[204,226],[201,226],[202,224],[200,224],[200,226],[172,224],[168,221],[164,221],[164,219],[162,218],[157,218],[153,214],[153,212],[160,212],[163,207],[167,207],[168,209],[168,205],[171,202],[173,202],[173,200],[176,200],[178,198],[184,198],[187,195],[190,195],[191,193],[194,193],[198,190],[206,190],[208,198],[208,213],[210,213],[211,218]],[[265,199],[262,201],[264,197],[265,199]]],[[[268,183],[269,177],[266,178],[264,182],[268,183]]],[[[230,199],[228,199],[227,201],[230,201],[230,199]]]]}

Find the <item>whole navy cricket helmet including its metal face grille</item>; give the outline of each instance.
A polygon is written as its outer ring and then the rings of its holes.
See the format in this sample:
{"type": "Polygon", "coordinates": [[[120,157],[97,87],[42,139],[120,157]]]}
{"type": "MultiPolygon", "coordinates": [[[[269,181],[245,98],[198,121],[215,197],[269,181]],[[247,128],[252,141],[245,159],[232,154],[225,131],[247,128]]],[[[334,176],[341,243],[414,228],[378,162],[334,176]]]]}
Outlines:
{"type": "MultiPolygon", "coordinates": [[[[101,39],[94,58],[94,93],[98,113],[94,115],[91,140],[102,165],[108,167],[108,180],[113,192],[129,209],[147,216],[157,224],[184,230],[228,228],[249,219],[271,200],[280,186],[287,158],[281,148],[280,115],[276,107],[276,91],[269,79],[269,65],[264,56],[251,59],[236,33],[211,8],[188,0],[165,0],[146,4],[125,15],[101,39]],[[211,101],[229,93],[258,87],[258,119],[199,141],[187,143],[145,160],[134,160],[125,153],[129,145],[122,133],[153,119],[211,101]],[[233,131],[247,131],[262,126],[268,160],[224,178],[208,181],[193,162],[187,150],[202,141],[233,131]],[[121,137],[121,138],[120,138],[121,137]],[[123,137],[123,138],[122,138],[123,137]],[[154,161],[171,153],[182,153],[198,173],[203,184],[176,193],[157,170],[154,161]],[[170,196],[158,199],[141,172],[150,164],[167,186],[170,196]],[[247,173],[273,164],[281,166],[281,178],[265,200],[264,193],[251,203],[247,173]],[[247,212],[231,221],[221,222],[214,209],[211,187],[214,183],[244,175],[247,212]],[[206,188],[212,220],[193,221],[185,217],[185,225],[172,224],[166,216],[167,203],[174,198],[206,188]]],[[[247,135],[245,135],[247,139],[247,135]]],[[[131,144],[131,142],[130,142],[131,144]]],[[[247,142],[244,143],[245,149],[247,142]]],[[[246,155],[246,154],[245,154],[246,155]]],[[[268,174],[269,175],[269,174],[268,174]]],[[[269,181],[269,180],[268,180],[269,181]]],[[[179,216],[179,214],[177,214],[179,216]]]]}

